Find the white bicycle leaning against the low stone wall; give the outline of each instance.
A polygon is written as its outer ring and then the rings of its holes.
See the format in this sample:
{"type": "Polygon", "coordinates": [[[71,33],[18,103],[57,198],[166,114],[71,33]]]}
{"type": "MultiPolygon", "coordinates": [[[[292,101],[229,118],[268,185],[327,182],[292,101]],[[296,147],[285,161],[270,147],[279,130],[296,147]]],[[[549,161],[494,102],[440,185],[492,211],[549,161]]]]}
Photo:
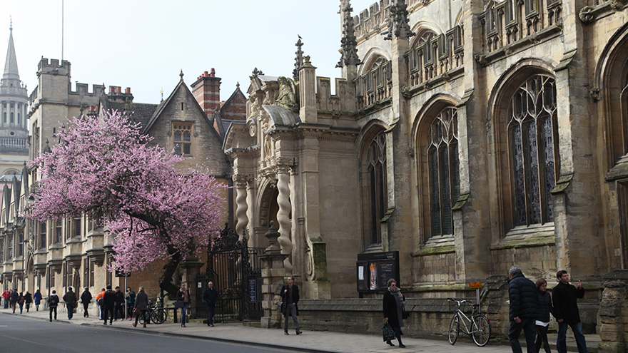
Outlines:
{"type": "Polygon", "coordinates": [[[455,344],[458,339],[458,335],[460,331],[465,334],[468,334],[472,337],[473,342],[477,344],[478,347],[484,347],[488,340],[490,339],[490,320],[487,319],[485,312],[477,311],[478,304],[472,304],[467,300],[456,300],[455,298],[447,298],[450,302],[455,302],[457,307],[455,310],[454,317],[452,317],[451,323],[449,325],[449,342],[450,344],[455,344]],[[473,312],[471,313],[471,317],[467,317],[462,310],[460,310],[460,306],[470,303],[473,305],[473,312]],[[460,323],[462,322],[462,326],[460,323]]]}

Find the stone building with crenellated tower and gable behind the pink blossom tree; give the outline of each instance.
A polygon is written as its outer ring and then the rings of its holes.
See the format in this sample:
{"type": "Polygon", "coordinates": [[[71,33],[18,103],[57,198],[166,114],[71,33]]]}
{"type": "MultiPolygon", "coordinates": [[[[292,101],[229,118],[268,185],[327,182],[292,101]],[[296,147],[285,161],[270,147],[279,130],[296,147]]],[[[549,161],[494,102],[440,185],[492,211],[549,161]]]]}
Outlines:
{"type": "MultiPolygon", "coordinates": [[[[76,83],[73,89],[69,61],[42,58],[37,75],[39,85],[30,96],[31,159],[57,142],[54,134],[66,117],[115,109],[139,123],[142,132],[153,137],[151,143],[187,157],[179,165],[183,170],[203,165],[212,170],[217,180],[231,183],[230,163],[222,150],[221,135],[186,86],[183,73],[170,96],[158,104],[133,102],[131,88],[122,91],[119,86],[109,86],[106,92],[104,86],[96,84],[89,91],[87,84],[76,83]]],[[[219,82],[220,78],[218,87],[219,82]]],[[[4,188],[7,192],[0,216],[1,287],[31,293],[39,289],[46,297],[50,290],[65,292],[69,286],[89,287],[92,293],[110,284],[123,286],[123,278],[106,270],[113,262],[112,239],[102,227],[84,216],[47,222],[24,219],[21,213],[28,212],[29,195],[39,175],[36,168],[24,167],[21,176],[21,182],[14,179],[10,189],[4,188]]],[[[223,197],[229,200],[231,191],[225,190],[223,197]]],[[[233,215],[230,205],[225,206],[224,222],[233,215]]],[[[153,264],[143,273],[132,274],[128,285],[134,289],[141,285],[151,296],[158,295],[162,265],[153,264]]]]}

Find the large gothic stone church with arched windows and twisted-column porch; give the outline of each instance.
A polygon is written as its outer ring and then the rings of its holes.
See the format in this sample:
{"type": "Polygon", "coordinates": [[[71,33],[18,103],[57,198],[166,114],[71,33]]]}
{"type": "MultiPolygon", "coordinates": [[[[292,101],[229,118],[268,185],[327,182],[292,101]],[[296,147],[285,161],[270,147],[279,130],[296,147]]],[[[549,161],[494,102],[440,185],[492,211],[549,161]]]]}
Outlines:
{"type": "Polygon", "coordinates": [[[374,252],[398,251],[417,300],[472,296],[470,281],[513,264],[551,288],[564,269],[587,289],[592,331],[602,275],[628,266],[627,5],[340,10],[335,91],[300,50],[295,82],[251,76],[247,119],[225,140],[238,232],[265,244],[278,223],[308,299],[358,297],[357,257],[374,252]]]}

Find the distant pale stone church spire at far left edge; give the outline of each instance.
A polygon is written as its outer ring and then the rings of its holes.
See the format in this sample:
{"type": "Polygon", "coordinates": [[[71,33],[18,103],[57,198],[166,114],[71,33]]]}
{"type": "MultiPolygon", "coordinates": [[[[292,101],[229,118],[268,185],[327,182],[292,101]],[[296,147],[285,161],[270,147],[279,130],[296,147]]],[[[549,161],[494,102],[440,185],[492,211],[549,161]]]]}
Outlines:
{"type": "Polygon", "coordinates": [[[6,49],[4,73],[0,80],[0,180],[10,181],[21,173],[29,160],[29,130],[26,116],[29,95],[19,78],[13,25],[9,28],[9,46],[6,49]]]}

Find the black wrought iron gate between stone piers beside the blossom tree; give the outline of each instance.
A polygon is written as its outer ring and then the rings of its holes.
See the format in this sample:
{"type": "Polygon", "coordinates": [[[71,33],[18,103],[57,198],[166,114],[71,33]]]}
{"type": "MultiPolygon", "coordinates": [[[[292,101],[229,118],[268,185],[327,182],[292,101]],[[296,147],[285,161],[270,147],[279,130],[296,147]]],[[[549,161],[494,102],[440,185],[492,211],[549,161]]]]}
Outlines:
{"type": "Polygon", "coordinates": [[[207,317],[202,294],[211,281],[218,290],[216,322],[259,320],[262,316],[259,256],[263,252],[263,248],[248,247],[246,234],[238,241],[238,234],[226,225],[220,240],[208,247],[206,276],[197,279],[203,284],[197,296],[197,316],[207,317]]]}

